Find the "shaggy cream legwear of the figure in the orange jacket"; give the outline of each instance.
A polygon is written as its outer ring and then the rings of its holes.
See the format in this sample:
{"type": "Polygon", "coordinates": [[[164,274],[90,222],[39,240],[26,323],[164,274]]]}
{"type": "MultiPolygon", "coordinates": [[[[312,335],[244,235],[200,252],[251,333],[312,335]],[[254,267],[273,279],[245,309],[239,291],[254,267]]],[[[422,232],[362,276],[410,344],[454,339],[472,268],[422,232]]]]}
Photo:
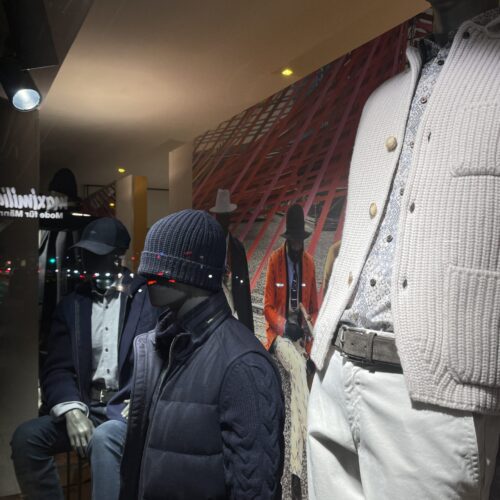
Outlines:
{"type": "Polygon", "coordinates": [[[307,387],[306,359],[304,349],[284,337],[274,341],[275,355],[290,376],[290,471],[302,475],[302,456],[307,433],[307,387]]]}

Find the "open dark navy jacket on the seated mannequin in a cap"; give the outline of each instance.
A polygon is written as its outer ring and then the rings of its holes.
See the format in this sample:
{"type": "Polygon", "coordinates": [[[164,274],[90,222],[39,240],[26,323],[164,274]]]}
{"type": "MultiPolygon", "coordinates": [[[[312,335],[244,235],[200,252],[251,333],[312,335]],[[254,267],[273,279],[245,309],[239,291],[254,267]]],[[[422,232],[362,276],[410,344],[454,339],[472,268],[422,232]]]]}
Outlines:
{"type": "MultiPolygon", "coordinates": [[[[119,388],[107,405],[109,419],[122,420],[123,401],[130,397],[134,338],[154,328],[158,310],[150,301],[145,279],[127,273],[120,294],[118,346],[119,388]]],[[[90,404],[92,383],[92,298],[88,283],[64,297],[57,305],[48,341],[48,355],[41,387],[48,409],[67,401],[90,404]]]]}

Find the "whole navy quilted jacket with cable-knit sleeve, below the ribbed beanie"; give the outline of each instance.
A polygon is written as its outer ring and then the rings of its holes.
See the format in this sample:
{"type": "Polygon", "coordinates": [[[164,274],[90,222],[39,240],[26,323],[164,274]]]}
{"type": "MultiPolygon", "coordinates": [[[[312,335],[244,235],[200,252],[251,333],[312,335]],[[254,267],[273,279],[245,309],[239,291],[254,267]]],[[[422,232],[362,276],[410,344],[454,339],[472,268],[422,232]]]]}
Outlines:
{"type": "Polygon", "coordinates": [[[160,318],[136,364],[121,500],[278,499],[284,402],[272,358],[223,293],[160,318]]]}

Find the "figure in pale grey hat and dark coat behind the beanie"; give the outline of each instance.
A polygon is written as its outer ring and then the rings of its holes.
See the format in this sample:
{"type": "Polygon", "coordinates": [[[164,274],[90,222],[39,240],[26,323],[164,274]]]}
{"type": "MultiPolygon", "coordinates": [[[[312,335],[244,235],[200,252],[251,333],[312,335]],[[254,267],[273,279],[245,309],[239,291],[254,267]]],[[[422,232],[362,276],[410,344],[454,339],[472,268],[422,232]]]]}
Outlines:
{"type": "Polygon", "coordinates": [[[217,222],[222,226],[226,236],[226,272],[223,288],[227,301],[235,318],[239,319],[252,332],[253,311],[250,293],[250,278],[245,247],[240,240],[229,232],[231,214],[238,208],[231,203],[231,193],[227,189],[217,191],[215,206],[210,209],[217,222]]]}

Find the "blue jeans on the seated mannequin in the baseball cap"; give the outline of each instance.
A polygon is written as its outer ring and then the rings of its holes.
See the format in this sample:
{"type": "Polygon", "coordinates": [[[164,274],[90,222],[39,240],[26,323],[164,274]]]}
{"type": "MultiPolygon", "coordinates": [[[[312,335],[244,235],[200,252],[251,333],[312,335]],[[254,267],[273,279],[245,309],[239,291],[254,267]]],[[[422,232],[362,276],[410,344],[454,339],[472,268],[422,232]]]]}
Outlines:
{"type": "MultiPolygon", "coordinates": [[[[94,430],[87,447],[93,500],[118,499],[126,430],[127,424],[118,420],[108,420],[94,430]]],[[[64,419],[55,422],[44,416],[21,424],[12,436],[11,448],[17,480],[28,500],[64,499],[54,461],[55,454],[71,450],[64,419]]]]}

